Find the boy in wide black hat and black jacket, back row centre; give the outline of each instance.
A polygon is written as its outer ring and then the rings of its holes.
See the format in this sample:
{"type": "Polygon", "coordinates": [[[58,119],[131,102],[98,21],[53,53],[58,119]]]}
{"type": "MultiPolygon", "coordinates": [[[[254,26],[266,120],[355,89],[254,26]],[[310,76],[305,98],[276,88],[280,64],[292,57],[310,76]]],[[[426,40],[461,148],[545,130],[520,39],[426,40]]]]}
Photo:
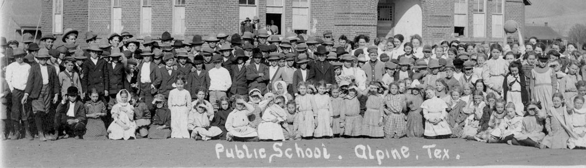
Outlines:
{"type": "Polygon", "coordinates": [[[309,71],[309,79],[314,79],[316,81],[325,80],[325,82],[328,84],[336,82],[332,64],[326,61],[326,56],[328,53],[329,51],[325,46],[318,46],[318,49],[315,52],[318,60],[313,64],[313,66],[311,66],[309,71]]]}

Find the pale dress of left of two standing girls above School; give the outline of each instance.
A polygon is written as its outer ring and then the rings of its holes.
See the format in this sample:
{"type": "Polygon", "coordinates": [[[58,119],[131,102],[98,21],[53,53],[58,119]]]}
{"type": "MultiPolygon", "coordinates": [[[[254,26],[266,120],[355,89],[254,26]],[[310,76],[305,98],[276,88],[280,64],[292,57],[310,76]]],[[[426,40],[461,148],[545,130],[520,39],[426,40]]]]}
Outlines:
{"type": "Polygon", "coordinates": [[[301,136],[303,137],[311,137],[314,136],[314,109],[315,109],[315,101],[314,95],[299,95],[295,98],[295,103],[297,103],[297,109],[299,110],[299,115],[301,115],[301,123],[299,123],[299,130],[301,131],[301,136]]]}

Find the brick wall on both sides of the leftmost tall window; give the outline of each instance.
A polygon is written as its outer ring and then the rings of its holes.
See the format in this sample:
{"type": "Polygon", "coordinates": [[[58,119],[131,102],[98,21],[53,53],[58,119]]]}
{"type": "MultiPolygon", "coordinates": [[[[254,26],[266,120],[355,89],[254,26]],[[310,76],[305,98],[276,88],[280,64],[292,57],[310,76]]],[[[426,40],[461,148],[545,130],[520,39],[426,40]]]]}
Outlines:
{"type": "MultiPolygon", "coordinates": [[[[90,0],[91,1],[91,0],[90,0]]],[[[42,0],[42,18],[40,31],[42,35],[53,33],[53,1],[42,0]]],[[[82,48],[87,47],[86,32],[88,27],[88,0],[63,0],[63,28],[79,31],[76,43],[82,48]]],[[[63,32],[65,33],[65,32],[63,32]]],[[[53,48],[63,45],[62,35],[54,35],[57,40],[53,48]]]]}

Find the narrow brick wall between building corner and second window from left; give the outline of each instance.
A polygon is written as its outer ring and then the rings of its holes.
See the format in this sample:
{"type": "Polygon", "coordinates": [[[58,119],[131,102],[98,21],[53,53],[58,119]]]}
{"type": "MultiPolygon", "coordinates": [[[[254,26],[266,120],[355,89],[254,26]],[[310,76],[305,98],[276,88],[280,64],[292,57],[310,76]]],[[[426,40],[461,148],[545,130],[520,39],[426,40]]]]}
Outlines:
{"type": "Polygon", "coordinates": [[[88,27],[90,31],[98,34],[98,38],[108,38],[112,22],[112,1],[88,0],[88,27]]]}

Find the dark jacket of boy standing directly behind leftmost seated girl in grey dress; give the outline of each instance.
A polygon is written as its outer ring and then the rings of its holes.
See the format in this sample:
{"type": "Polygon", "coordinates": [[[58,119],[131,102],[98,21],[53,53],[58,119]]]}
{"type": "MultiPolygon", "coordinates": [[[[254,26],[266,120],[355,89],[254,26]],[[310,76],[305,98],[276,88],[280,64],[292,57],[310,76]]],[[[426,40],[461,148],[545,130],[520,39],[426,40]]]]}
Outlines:
{"type": "Polygon", "coordinates": [[[81,65],[83,78],[81,78],[81,87],[84,93],[91,88],[96,88],[98,92],[104,93],[104,90],[110,92],[110,74],[108,73],[108,62],[104,59],[98,59],[97,64],[90,59],[86,59],[81,65]]]}

